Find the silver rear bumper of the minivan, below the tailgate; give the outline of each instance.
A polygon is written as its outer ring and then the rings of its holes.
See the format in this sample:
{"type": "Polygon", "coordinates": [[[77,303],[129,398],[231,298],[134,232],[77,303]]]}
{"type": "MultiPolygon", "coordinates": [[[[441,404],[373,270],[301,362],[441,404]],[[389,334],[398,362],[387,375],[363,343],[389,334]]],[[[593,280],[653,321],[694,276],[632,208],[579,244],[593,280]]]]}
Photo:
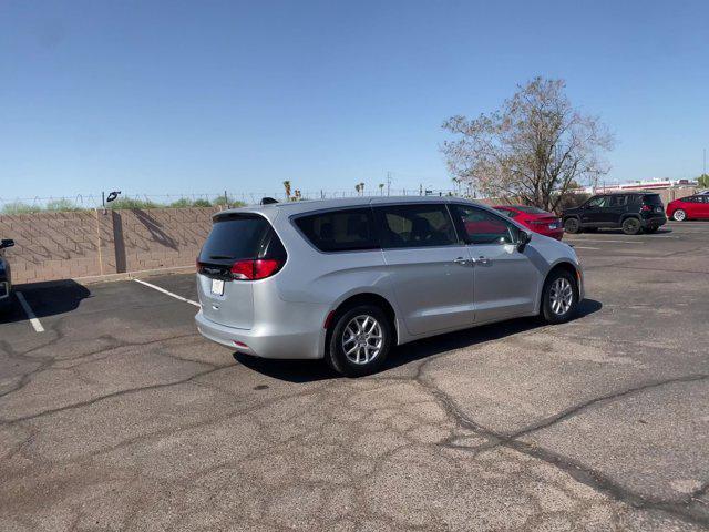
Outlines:
{"type": "Polygon", "coordinates": [[[237,329],[207,319],[202,310],[195,316],[195,323],[205,338],[246,355],[276,359],[317,359],[323,356],[323,328],[304,332],[288,330],[287,327],[280,331],[266,331],[258,327],[237,329]]]}

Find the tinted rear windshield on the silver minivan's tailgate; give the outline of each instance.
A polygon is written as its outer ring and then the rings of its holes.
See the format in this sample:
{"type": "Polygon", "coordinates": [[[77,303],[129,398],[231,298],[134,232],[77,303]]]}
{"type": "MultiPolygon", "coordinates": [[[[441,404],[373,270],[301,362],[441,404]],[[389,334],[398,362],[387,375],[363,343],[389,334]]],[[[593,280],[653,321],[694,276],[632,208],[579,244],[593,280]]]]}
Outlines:
{"type": "Polygon", "coordinates": [[[199,262],[219,264],[284,253],[280,239],[266,218],[258,214],[228,214],[214,221],[199,262]]]}

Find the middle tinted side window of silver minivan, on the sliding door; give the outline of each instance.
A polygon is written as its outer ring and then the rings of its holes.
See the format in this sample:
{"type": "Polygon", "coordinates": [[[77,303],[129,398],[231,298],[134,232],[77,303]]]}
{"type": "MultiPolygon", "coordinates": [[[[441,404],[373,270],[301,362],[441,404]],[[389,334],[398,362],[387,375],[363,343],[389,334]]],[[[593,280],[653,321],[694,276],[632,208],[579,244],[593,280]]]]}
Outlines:
{"type": "Polygon", "coordinates": [[[374,207],[383,248],[451,246],[458,244],[453,221],[443,204],[374,207]]]}

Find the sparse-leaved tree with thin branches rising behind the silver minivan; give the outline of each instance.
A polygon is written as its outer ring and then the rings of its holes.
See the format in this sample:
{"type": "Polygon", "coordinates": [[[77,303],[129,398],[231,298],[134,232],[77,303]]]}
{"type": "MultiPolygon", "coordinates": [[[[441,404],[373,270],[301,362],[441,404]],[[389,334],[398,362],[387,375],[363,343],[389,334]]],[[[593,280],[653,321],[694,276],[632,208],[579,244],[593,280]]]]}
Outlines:
{"type": "Polygon", "coordinates": [[[452,116],[456,139],[441,146],[454,180],[490,197],[554,211],[573,183],[608,172],[602,153],[614,140],[597,116],[574,109],[563,80],[535,78],[502,109],[476,119],[452,116]]]}

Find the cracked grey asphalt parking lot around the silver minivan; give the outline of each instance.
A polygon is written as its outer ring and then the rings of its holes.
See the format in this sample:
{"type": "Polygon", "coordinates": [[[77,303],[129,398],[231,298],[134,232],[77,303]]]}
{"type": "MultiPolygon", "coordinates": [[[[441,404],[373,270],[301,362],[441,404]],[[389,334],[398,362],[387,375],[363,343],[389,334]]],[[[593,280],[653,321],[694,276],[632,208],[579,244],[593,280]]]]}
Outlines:
{"type": "Polygon", "coordinates": [[[582,315],[343,379],[197,335],[192,275],[0,319],[0,529],[709,528],[709,223],[574,235],[582,315]],[[42,331],[38,331],[43,329],[42,331]]]}

